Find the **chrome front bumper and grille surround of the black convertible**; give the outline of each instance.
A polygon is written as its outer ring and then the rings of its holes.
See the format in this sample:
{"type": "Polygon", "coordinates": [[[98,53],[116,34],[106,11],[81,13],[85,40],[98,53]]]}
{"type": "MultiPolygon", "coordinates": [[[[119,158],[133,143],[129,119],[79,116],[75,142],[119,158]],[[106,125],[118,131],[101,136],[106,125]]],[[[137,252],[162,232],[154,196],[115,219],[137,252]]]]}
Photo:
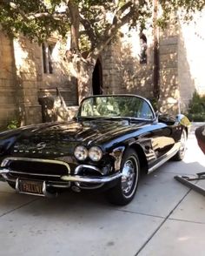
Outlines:
{"type": "Polygon", "coordinates": [[[0,167],[0,180],[16,186],[17,191],[18,183],[23,180],[27,180],[31,184],[39,181],[43,183],[45,196],[48,195],[49,190],[57,188],[71,187],[73,190],[76,188],[76,192],[81,189],[97,189],[121,178],[121,176],[122,172],[120,171],[108,174],[105,170],[94,165],[77,165],[71,173],[69,164],[56,159],[10,157],[4,158],[0,167]],[[19,164],[22,162],[23,165],[20,167],[19,165],[10,166],[10,163],[19,164]],[[55,172],[52,171],[53,166],[56,166],[55,172]],[[62,168],[63,172],[61,172],[62,168]],[[44,172],[45,170],[46,172],[44,172]]]}

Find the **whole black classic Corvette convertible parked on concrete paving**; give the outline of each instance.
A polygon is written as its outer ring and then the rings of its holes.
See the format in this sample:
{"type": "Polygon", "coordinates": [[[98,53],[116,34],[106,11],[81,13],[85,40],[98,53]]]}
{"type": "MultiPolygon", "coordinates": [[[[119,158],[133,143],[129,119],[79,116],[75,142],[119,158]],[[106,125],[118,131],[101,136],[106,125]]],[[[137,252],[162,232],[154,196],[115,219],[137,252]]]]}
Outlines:
{"type": "Polygon", "coordinates": [[[140,96],[84,98],[71,121],[0,133],[1,180],[40,196],[102,190],[111,203],[126,205],[142,174],[182,160],[188,126],[182,114],[156,114],[140,96]]]}

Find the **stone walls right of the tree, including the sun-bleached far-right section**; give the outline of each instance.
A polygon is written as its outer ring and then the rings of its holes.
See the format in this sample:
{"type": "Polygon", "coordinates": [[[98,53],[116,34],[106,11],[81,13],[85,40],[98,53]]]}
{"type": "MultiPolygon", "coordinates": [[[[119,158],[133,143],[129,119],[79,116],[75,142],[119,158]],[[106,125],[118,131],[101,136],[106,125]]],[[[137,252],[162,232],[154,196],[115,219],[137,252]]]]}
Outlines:
{"type": "Polygon", "coordinates": [[[139,34],[127,30],[102,56],[103,86],[111,93],[135,93],[154,97],[154,33],[159,42],[159,110],[169,113],[188,111],[194,91],[205,94],[205,10],[194,19],[169,24],[166,30],[147,30],[148,62],[139,62],[139,34]],[[109,89],[109,90],[108,90],[109,89]]]}

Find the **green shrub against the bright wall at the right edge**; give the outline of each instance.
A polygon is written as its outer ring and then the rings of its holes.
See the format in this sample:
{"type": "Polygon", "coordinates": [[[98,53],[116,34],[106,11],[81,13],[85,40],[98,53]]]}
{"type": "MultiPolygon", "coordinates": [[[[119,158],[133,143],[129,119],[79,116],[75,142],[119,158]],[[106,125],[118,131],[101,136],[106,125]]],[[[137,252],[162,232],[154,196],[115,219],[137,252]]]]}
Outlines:
{"type": "Polygon", "coordinates": [[[205,121],[205,96],[200,96],[196,91],[188,105],[188,118],[195,122],[205,121]]]}

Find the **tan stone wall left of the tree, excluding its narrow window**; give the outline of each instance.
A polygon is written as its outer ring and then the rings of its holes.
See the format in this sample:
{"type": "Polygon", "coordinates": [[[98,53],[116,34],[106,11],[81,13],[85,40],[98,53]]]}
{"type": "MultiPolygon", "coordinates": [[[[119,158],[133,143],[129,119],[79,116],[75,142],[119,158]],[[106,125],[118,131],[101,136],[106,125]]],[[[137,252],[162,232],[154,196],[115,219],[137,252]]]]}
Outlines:
{"type": "Polygon", "coordinates": [[[64,59],[65,44],[53,39],[52,73],[43,71],[43,49],[25,37],[14,40],[0,34],[0,127],[12,120],[21,125],[42,122],[39,98],[61,91],[67,105],[77,104],[76,79],[64,59]]]}

